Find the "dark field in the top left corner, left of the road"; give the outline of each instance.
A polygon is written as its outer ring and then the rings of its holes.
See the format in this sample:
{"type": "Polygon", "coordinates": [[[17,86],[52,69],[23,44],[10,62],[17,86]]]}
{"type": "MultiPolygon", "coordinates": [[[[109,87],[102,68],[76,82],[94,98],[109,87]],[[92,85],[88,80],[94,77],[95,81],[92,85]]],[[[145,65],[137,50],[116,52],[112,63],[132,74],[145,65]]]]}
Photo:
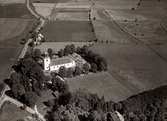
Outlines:
{"type": "Polygon", "coordinates": [[[33,18],[25,4],[1,4],[0,18],[33,18]]]}

